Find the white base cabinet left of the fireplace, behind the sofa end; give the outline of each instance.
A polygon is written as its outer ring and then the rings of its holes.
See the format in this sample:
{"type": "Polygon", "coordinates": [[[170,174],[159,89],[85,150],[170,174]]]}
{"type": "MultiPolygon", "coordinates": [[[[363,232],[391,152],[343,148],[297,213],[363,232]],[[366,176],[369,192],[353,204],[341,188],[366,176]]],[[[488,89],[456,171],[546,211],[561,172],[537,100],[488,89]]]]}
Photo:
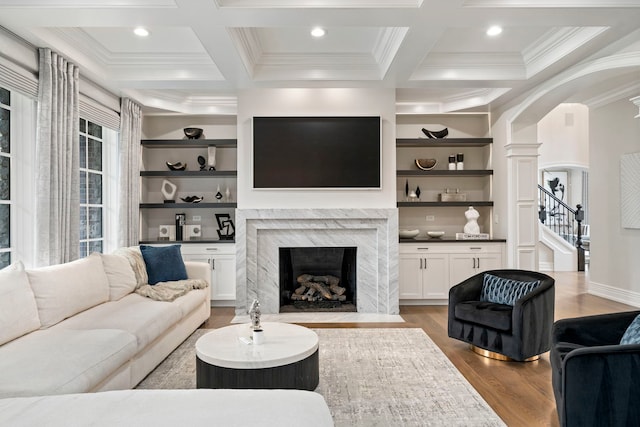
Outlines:
{"type": "Polygon", "coordinates": [[[209,264],[212,301],[235,301],[236,254],[234,244],[183,244],[182,257],[185,261],[209,264]]]}

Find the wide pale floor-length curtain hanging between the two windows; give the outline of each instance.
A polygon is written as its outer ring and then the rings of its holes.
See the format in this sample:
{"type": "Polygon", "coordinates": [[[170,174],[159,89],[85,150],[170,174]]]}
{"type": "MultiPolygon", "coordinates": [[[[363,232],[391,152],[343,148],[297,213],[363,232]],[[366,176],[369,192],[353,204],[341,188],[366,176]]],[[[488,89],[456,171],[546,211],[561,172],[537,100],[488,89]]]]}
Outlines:
{"type": "Polygon", "coordinates": [[[79,69],[50,49],[39,54],[36,263],[44,266],[79,255],[79,69]]]}

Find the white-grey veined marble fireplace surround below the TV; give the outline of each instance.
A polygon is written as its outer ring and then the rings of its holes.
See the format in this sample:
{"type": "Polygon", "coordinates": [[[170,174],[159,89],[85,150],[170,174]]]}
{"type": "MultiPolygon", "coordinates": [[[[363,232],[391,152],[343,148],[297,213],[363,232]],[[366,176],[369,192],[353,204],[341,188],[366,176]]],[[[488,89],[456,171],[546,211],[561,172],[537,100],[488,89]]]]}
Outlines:
{"type": "Polygon", "coordinates": [[[280,311],[280,247],[355,246],[358,313],[398,314],[396,209],[237,209],[236,314],[280,311]]]}

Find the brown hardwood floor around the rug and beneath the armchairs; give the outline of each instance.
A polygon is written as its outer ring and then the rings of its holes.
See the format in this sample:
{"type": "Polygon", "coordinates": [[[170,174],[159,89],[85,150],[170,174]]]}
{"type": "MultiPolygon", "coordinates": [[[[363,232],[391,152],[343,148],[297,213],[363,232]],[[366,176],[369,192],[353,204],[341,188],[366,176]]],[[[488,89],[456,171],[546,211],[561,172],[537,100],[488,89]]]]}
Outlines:
{"type": "MultiPolygon", "coordinates": [[[[550,273],[556,279],[555,318],[635,310],[636,308],[585,293],[588,273],[550,273]]],[[[310,324],[311,328],[422,328],[482,397],[509,426],[558,426],[551,388],[549,355],[535,362],[500,362],[473,353],[447,336],[446,306],[401,306],[406,323],[310,324]]],[[[229,325],[232,308],[213,308],[203,326],[229,325]]]]}

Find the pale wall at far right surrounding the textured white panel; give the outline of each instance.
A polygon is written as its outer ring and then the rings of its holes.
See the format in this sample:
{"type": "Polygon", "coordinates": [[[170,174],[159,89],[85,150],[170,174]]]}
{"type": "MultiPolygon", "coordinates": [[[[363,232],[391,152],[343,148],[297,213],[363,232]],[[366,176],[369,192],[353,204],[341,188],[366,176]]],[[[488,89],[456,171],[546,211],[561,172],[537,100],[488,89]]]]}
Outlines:
{"type": "Polygon", "coordinates": [[[628,100],[590,112],[591,293],[640,305],[640,230],[620,223],[620,156],[640,151],[640,119],[628,100]]]}

